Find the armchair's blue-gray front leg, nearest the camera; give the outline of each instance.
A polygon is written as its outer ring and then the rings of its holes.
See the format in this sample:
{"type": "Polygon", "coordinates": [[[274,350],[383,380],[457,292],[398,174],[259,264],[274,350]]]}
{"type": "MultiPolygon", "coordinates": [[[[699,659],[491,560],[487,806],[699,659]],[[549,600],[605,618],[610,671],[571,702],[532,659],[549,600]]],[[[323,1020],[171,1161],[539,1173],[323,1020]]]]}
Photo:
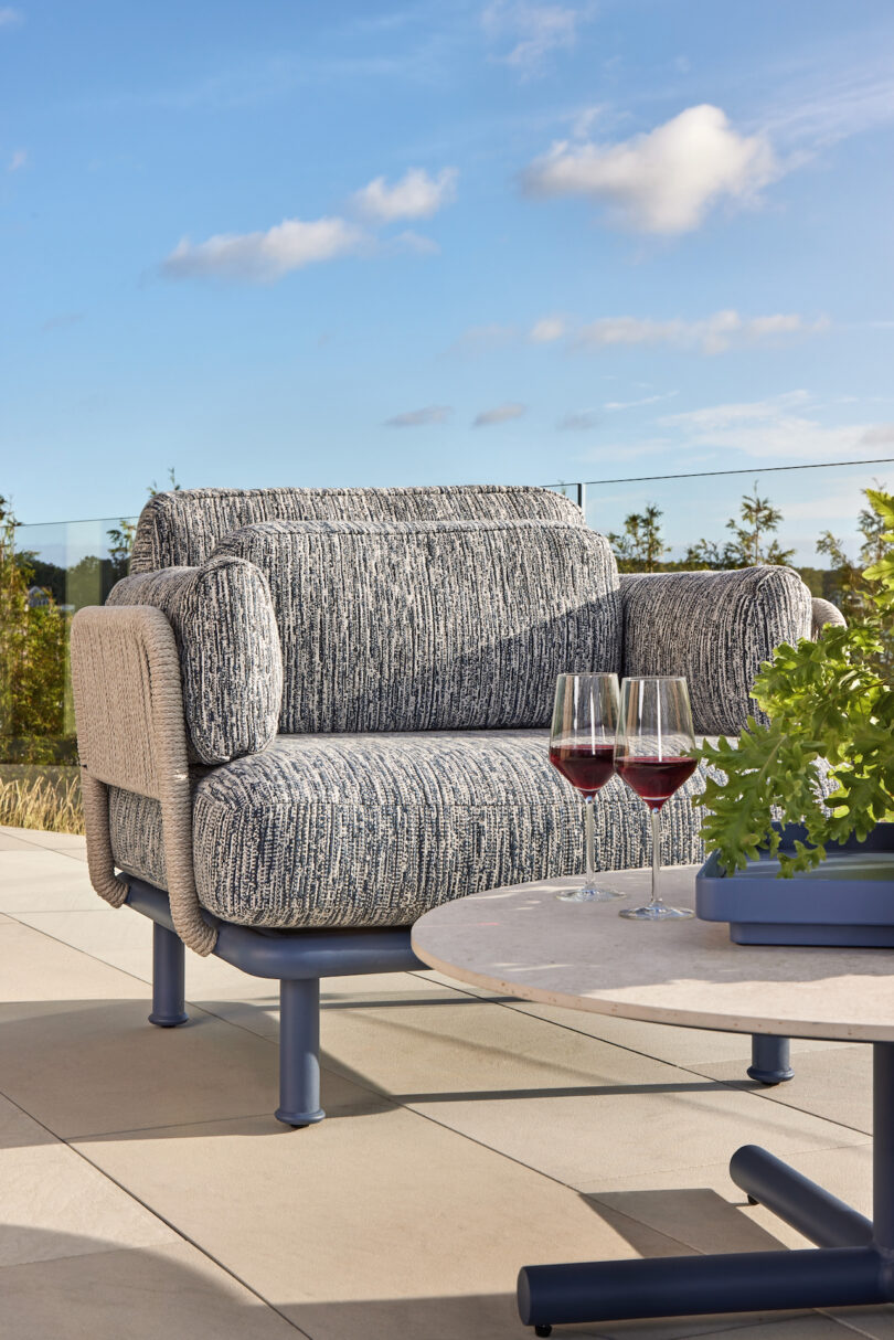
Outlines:
{"type": "Polygon", "coordinates": [[[312,1126],[320,1107],[320,980],[279,984],[279,1107],[285,1126],[312,1126]]]}

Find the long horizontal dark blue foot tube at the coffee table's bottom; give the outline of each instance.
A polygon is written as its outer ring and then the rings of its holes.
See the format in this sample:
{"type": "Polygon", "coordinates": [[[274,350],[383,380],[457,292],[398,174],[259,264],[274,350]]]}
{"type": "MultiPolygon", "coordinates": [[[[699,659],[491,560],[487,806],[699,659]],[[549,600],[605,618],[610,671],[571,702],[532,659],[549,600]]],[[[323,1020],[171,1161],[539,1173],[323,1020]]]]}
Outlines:
{"type": "Polygon", "coordinates": [[[874,1248],[525,1266],[524,1325],[886,1302],[874,1248]]]}

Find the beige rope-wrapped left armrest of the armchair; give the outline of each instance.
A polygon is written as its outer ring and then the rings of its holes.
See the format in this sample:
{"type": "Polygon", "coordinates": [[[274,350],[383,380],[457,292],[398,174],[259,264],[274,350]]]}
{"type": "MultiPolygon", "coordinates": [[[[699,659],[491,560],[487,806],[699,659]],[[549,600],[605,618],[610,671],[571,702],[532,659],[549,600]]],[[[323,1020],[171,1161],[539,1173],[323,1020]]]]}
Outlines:
{"type": "Polygon", "coordinates": [[[158,800],[174,929],[196,953],[209,954],[217,931],[196,892],[180,658],[170,623],[151,606],[80,610],[71,626],[71,679],[94,888],[113,906],[127,896],[126,876],[114,868],[107,788],[158,800]]]}

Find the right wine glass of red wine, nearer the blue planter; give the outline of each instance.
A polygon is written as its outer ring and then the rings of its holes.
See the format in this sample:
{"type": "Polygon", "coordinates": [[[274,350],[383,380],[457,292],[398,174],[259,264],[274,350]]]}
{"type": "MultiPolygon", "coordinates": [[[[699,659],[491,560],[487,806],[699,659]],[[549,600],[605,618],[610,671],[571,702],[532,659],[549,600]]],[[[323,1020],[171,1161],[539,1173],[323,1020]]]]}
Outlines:
{"type": "Polygon", "coordinates": [[[669,907],[661,898],[661,807],[696,770],[689,690],[680,677],[625,679],[621,721],[615,741],[615,770],[651,811],[651,902],[625,907],[633,921],[693,917],[689,909],[669,907]]]}

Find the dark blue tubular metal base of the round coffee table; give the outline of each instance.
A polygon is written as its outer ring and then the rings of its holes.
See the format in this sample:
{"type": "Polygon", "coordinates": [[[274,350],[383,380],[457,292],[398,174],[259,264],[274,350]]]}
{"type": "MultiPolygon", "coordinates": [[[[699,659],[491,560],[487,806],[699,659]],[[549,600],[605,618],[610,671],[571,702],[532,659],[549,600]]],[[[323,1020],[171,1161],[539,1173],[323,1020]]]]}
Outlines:
{"type": "Polygon", "coordinates": [[[519,1315],[539,1336],[559,1323],[894,1302],[894,1043],[874,1043],[873,1222],[747,1144],[733,1182],[816,1248],[525,1266],[519,1315]]]}

